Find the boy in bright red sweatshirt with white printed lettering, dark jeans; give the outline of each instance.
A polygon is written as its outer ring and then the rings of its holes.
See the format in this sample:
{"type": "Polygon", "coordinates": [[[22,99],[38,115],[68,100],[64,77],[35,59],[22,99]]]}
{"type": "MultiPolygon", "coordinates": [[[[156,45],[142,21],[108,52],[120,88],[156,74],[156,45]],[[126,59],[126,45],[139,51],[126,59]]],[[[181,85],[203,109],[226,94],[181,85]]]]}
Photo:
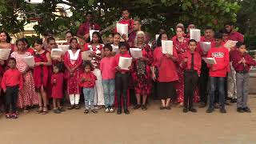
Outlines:
{"type": "Polygon", "coordinates": [[[224,85],[226,73],[230,71],[230,54],[229,50],[222,46],[222,34],[215,34],[214,38],[215,46],[207,54],[207,58],[215,58],[216,64],[207,65],[210,69],[210,105],[206,113],[212,113],[214,111],[214,91],[216,86],[218,86],[220,112],[226,113],[224,85]]]}

